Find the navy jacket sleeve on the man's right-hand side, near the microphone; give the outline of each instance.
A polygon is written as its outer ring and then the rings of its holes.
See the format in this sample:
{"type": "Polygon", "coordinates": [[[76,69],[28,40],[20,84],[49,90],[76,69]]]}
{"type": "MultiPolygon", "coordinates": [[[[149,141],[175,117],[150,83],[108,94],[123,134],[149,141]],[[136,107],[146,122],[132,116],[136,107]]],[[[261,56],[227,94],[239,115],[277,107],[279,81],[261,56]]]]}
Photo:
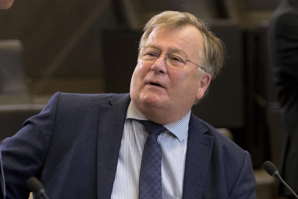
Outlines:
{"type": "Polygon", "coordinates": [[[242,169],[230,192],[230,199],[255,199],[255,175],[251,164],[251,156],[245,151],[242,169]]]}

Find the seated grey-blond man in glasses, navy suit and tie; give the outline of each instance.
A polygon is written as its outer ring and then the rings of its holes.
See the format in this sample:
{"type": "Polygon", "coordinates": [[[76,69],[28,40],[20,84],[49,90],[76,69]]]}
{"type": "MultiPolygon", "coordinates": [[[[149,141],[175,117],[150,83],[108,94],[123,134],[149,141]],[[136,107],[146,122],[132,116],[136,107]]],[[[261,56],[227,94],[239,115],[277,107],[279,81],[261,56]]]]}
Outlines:
{"type": "Polygon", "coordinates": [[[130,94],[57,93],[3,142],[7,198],[26,198],[30,176],[49,198],[143,198],[149,120],[166,128],[154,198],[255,198],[249,153],[191,113],[223,61],[223,43],[195,16],[152,17],[130,94]]]}

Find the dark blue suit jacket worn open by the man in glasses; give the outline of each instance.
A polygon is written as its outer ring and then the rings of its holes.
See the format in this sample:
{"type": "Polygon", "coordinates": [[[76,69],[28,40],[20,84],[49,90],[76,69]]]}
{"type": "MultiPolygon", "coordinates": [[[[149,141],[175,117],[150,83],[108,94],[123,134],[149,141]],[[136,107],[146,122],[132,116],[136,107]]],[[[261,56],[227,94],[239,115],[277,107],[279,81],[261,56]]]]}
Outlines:
{"type": "MultiPolygon", "coordinates": [[[[49,198],[111,198],[129,94],[56,93],[2,146],[7,198],[35,176],[49,198]]],[[[255,198],[248,152],[191,115],[183,199],[255,198]]]]}

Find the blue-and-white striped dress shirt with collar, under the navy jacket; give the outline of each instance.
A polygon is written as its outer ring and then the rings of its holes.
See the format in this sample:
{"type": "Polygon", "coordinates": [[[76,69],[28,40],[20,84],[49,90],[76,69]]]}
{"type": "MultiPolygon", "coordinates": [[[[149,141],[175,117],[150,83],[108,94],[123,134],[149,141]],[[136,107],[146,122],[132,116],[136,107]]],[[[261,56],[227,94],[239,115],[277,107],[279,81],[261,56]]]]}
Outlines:
{"type": "MultiPolygon", "coordinates": [[[[163,125],[157,142],[162,150],[162,198],[182,198],[190,111],[181,120],[163,125]]],[[[149,120],[130,102],[124,124],[111,199],[138,199],[142,151],[148,132],[141,120],[149,120]]]]}

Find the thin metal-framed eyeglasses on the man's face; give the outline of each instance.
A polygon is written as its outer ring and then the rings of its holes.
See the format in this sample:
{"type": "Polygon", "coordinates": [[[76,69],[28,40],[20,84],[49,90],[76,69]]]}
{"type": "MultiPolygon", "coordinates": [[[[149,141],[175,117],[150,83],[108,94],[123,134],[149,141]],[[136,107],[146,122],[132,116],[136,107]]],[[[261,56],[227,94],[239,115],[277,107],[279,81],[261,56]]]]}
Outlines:
{"type": "MultiPolygon", "coordinates": [[[[192,62],[190,60],[187,60],[184,55],[179,53],[172,53],[172,52],[163,53],[163,52],[160,52],[159,49],[146,47],[146,46],[143,46],[141,49],[138,49],[138,50],[140,52],[139,53],[140,59],[149,61],[149,62],[155,62],[161,54],[165,55],[166,64],[172,67],[183,68],[186,61],[192,62]]],[[[194,62],[192,63],[197,65],[194,62]]],[[[201,67],[199,65],[197,66],[201,67]]],[[[203,67],[201,68],[205,71],[203,67]]]]}

